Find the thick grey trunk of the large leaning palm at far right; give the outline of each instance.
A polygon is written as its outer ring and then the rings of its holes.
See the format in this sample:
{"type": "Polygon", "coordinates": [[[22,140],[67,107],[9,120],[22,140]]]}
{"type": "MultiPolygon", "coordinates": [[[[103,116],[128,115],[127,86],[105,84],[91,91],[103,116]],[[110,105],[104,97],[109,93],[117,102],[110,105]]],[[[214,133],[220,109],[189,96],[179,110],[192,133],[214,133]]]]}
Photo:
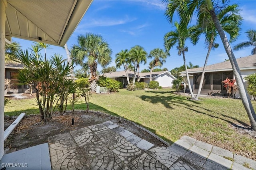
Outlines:
{"type": "Polygon", "coordinates": [[[234,73],[234,76],[236,78],[236,83],[237,83],[237,86],[238,86],[239,94],[240,94],[242,103],[244,104],[244,108],[245,108],[245,110],[248,114],[252,129],[256,130],[256,114],[255,114],[255,111],[252,107],[252,102],[250,100],[250,96],[249,96],[248,92],[245,89],[243,78],[241,76],[241,72],[240,72],[239,66],[237,64],[235,55],[232,51],[232,48],[230,47],[230,44],[228,42],[228,38],[226,37],[226,35],[224,33],[224,30],[222,29],[222,27],[220,25],[220,21],[218,20],[214,10],[210,10],[210,14],[211,14],[212,20],[214,22],[214,25],[218,30],[218,33],[220,35],[220,38],[222,40],[222,43],[223,43],[224,48],[226,50],[226,53],[228,54],[228,58],[229,58],[230,63],[232,65],[233,73],[234,73]]]}

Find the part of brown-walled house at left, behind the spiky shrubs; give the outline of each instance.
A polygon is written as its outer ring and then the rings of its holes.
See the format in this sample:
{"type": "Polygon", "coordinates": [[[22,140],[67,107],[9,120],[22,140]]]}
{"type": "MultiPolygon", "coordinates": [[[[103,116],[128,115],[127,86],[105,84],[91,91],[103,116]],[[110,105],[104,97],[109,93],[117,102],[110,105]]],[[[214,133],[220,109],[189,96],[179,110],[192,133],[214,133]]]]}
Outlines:
{"type": "Polygon", "coordinates": [[[8,85],[8,88],[4,91],[4,94],[28,92],[28,86],[18,85],[18,80],[15,77],[16,74],[18,73],[18,70],[21,70],[21,69],[23,69],[23,65],[18,63],[8,62],[4,65],[4,70],[5,70],[4,78],[8,78],[9,80],[11,80],[8,85]]]}

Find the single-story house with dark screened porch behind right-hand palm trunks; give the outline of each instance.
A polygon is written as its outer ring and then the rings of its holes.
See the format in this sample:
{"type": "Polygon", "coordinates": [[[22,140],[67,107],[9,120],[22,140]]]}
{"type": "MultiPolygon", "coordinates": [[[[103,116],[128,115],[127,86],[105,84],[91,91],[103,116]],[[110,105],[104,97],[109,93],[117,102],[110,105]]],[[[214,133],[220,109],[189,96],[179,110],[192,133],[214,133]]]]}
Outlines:
{"type": "MultiPolygon", "coordinates": [[[[240,68],[243,79],[245,76],[256,73],[256,55],[237,58],[236,60],[238,62],[238,66],[240,68]]],[[[188,69],[188,74],[191,75],[189,76],[190,84],[194,94],[198,92],[202,70],[203,67],[188,69]]],[[[183,71],[181,74],[184,75],[186,72],[183,71]]],[[[223,87],[224,84],[222,83],[222,81],[226,78],[234,79],[230,61],[224,61],[206,66],[201,94],[222,93],[227,95],[226,89],[223,87]]],[[[239,97],[238,92],[236,93],[236,97],[239,97]]]]}

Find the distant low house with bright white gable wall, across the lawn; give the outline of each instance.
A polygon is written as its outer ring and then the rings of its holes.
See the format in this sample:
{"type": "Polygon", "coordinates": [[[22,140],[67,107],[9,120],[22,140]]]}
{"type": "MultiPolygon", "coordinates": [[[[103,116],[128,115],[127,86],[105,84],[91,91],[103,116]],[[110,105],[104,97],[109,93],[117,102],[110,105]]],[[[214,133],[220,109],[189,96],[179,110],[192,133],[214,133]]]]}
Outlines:
{"type": "MultiPolygon", "coordinates": [[[[128,84],[125,71],[109,72],[109,73],[104,73],[104,75],[108,78],[112,78],[114,80],[118,80],[122,82],[124,86],[128,84]]],[[[134,72],[128,70],[128,76],[129,76],[130,82],[132,82],[133,80],[133,75],[134,75],[134,72]]],[[[149,72],[140,73],[139,77],[140,77],[140,82],[146,82],[146,83],[150,82],[149,72]]],[[[136,79],[137,78],[138,77],[136,75],[136,79]]],[[[161,71],[161,72],[152,72],[152,80],[158,81],[159,86],[167,88],[167,87],[172,87],[172,81],[176,80],[176,78],[172,76],[172,74],[169,71],[161,71]]]]}

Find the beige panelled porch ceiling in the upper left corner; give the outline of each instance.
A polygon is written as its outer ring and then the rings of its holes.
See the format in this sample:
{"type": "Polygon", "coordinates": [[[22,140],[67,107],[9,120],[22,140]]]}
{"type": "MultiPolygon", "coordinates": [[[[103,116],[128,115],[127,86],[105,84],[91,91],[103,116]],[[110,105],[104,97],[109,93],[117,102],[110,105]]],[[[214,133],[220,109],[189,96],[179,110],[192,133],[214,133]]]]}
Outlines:
{"type": "Polygon", "coordinates": [[[5,34],[64,46],[92,0],[6,0],[5,34]]]}

